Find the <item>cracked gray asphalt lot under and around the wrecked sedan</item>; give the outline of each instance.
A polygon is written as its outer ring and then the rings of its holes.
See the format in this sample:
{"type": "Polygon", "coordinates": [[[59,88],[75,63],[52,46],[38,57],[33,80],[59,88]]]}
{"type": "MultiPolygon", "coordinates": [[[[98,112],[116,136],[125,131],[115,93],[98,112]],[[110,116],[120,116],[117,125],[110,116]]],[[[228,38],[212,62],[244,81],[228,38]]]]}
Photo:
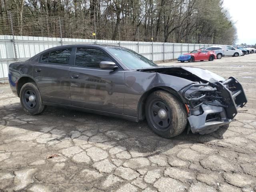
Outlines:
{"type": "Polygon", "coordinates": [[[235,76],[248,104],[229,127],[171,139],[146,121],[56,107],[30,116],[0,85],[0,191],[256,191],[255,61],[250,54],[182,64],[235,76]]]}

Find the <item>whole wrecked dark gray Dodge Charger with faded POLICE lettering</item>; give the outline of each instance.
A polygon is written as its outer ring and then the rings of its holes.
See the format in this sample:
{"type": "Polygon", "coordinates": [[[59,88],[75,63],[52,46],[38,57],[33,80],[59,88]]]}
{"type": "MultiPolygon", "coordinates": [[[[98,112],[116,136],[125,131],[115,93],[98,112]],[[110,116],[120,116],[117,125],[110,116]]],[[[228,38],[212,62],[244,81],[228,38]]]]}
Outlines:
{"type": "Polygon", "coordinates": [[[63,106],[139,122],[165,138],[185,128],[206,134],[229,124],[246,96],[234,78],[202,68],[158,66],[127,48],[79,44],[45,50],[9,66],[25,112],[63,106]]]}

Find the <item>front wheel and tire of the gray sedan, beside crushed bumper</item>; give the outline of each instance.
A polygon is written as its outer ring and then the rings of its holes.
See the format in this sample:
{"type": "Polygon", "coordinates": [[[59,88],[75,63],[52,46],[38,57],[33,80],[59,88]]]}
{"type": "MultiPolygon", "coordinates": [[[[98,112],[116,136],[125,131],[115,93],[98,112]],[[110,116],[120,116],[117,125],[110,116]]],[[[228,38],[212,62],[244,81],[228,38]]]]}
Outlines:
{"type": "Polygon", "coordinates": [[[146,101],[145,112],[150,128],[164,138],[181,134],[188,123],[184,105],[167,91],[159,90],[150,94],[146,101]],[[166,118],[159,116],[160,110],[164,110],[166,118]]]}

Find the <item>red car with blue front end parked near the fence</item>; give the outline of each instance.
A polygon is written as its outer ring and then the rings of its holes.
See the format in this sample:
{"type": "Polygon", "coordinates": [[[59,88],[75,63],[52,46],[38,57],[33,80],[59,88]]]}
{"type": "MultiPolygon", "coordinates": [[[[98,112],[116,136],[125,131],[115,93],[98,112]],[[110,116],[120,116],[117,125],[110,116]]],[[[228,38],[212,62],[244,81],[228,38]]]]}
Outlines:
{"type": "MultiPolygon", "coordinates": [[[[190,53],[185,53],[183,55],[190,55],[190,59],[187,60],[188,62],[203,61],[203,60],[213,61],[214,59],[217,59],[216,53],[208,50],[194,50],[190,53]]],[[[184,61],[185,60],[180,60],[180,62],[184,62],[184,61]]]]}

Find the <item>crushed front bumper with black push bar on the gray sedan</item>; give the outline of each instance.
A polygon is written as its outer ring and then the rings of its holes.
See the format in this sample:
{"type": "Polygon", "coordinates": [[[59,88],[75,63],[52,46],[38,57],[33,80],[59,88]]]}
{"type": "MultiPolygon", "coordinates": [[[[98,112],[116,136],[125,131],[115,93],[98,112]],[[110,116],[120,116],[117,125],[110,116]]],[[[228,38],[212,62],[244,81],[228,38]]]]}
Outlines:
{"type": "MultiPolygon", "coordinates": [[[[194,89],[196,90],[196,89],[194,89]]],[[[188,121],[193,133],[206,134],[213,132],[220,126],[230,123],[238,108],[247,103],[242,85],[230,77],[224,82],[192,84],[182,90],[189,114],[188,121]],[[191,96],[189,90],[193,88],[210,87],[198,97],[191,96]]]]}

